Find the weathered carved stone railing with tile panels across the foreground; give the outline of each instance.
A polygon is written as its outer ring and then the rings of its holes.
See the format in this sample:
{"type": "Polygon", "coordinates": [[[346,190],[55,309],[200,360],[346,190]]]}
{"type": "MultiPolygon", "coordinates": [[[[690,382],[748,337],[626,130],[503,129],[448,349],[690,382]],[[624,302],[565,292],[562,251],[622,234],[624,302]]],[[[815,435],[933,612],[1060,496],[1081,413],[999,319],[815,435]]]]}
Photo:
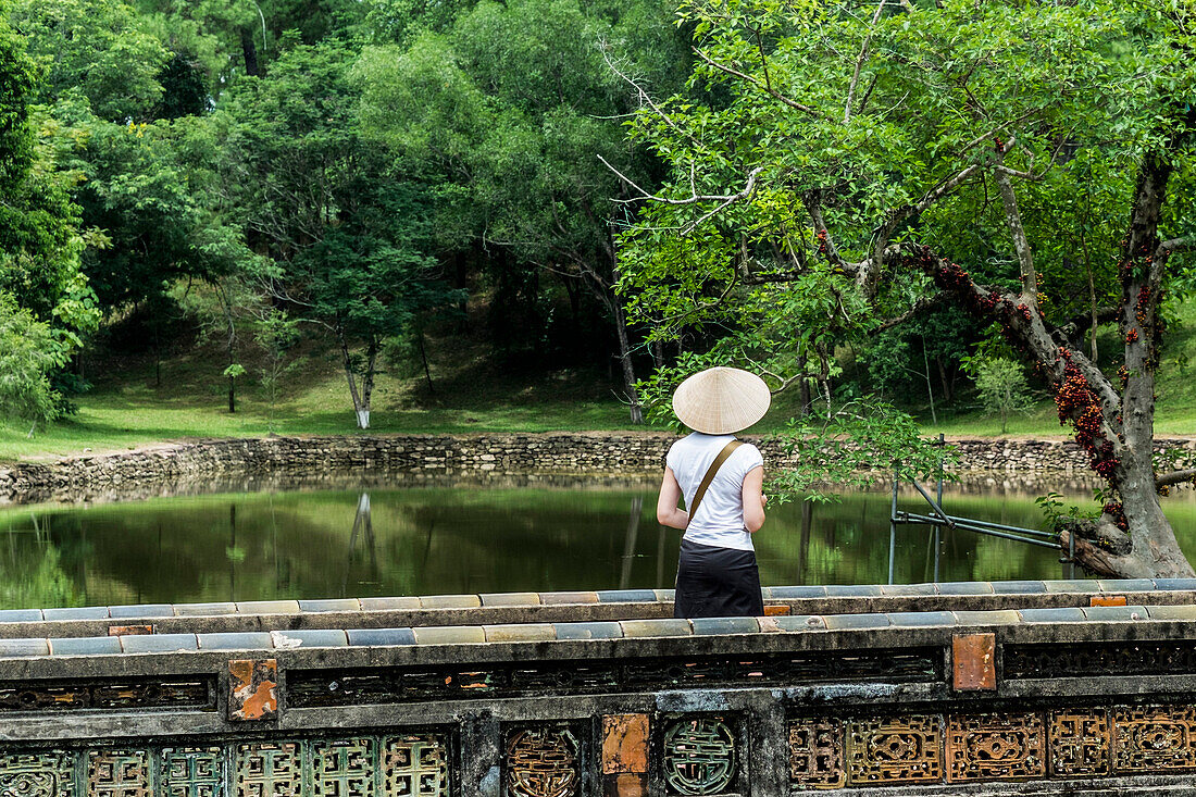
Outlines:
{"type": "Polygon", "coordinates": [[[1048,586],[7,615],[0,796],[1191,793],[1196,583],[1048,586]]]}

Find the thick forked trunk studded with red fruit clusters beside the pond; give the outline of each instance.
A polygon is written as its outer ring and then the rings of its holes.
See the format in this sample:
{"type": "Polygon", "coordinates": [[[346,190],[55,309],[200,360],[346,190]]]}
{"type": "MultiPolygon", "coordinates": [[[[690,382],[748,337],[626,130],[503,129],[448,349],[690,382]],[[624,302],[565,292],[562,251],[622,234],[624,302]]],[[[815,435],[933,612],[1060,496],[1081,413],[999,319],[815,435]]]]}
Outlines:
{"type": "Polygon", "coordinates": [[[1072,522],[1063,547],[1074,537],[1076,561],[1088,570],[1121,577],[1190,577],[1191,565],[1159,505],[1154,473],[1154,371],[1159,363],[1159,293],[1172,248],[1158,242],[1159,213],[1171,176],[1170,164],[1147,157],[1134,194],[1129,235],[1121,263],[1121,331],[1125,365],[1121,395],[1079,347],[1051,328],[1038,309],[1037,286],[1012,183],[999,178],[1015,249],[1023,261],[1018,294],[977,285],[959,266],[928,248],[915,248],[940,288],[974,314],[996,320],[1013,345],[1033,359],[1055,393],[1060,420],[1075,428],[1075,440],[1090,456],[1116,497],[1096,521],[1072,522]]]}

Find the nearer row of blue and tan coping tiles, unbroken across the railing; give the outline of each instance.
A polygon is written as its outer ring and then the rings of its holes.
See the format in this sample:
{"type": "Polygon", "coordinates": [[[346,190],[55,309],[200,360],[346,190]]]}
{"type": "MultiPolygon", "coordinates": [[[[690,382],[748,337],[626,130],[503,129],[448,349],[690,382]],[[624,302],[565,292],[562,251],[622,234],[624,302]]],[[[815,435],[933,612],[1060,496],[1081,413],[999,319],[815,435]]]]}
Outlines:
{"type": "Polygon", "coordinates": [[[1098,606],[993,612],[891,612],[877,614],[697,617],[599,622],[533,622],[404,628],[325,628],[243,633],[129,634],[0,639],[0,658],[103,656],[183,651],[262,651],[297,647],[385,647],[544,643],[586,639],[659,639],[731,634],[810,633],[875,628],[993,627],[1031,623],[1196,621],[1196,604],[1098,606]]]}

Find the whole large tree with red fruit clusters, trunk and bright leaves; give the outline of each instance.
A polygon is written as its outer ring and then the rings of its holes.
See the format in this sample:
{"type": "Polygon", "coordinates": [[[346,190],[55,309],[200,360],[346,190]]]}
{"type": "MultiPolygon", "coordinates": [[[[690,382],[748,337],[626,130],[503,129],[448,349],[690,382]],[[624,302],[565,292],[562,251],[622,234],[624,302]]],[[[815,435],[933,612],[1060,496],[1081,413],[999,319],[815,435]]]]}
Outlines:
{"type": "MultiPolygon", "coordinates": [[[[840,340],[932,300],[996,322],[1109,482],[1100,517],[1068,531],[1078,558],[1102,573],[1190,576],[1158,491],[1194,474],[1157,474],[1152,454],[1160,303],[1194,221],[1191,12],[685,4],[691,86],[709,99],[636,121],[673,177],[624,237],[631,306],[673,330],[757,330],[823,304],[808,317],[840,340]],[[1075,201],[1085,194],[1102,200],[1075,201]],[[1075,318],[1076,302],[1056,297],[1078,262],[1094,285],[1075,318]],[[801,293],[814,275],[826,292],[801,293]],[[1093,323],[1124,340],[1107,372],[1080,345],[1093,323]]],[[[752,335],[756,361],[791,383],[793,336],[752,335]]]]}

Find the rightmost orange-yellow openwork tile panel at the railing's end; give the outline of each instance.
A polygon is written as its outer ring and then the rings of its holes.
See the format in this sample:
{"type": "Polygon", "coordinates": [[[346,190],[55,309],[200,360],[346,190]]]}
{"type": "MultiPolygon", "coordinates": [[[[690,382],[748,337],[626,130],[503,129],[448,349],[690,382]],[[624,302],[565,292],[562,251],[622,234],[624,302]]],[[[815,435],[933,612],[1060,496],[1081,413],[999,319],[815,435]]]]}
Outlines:
{"type": "Polygon", "coordinates": [[[1122,706],[1111,713],[1115,773],[1196,768],[1196,707],[1122,706]]]}

